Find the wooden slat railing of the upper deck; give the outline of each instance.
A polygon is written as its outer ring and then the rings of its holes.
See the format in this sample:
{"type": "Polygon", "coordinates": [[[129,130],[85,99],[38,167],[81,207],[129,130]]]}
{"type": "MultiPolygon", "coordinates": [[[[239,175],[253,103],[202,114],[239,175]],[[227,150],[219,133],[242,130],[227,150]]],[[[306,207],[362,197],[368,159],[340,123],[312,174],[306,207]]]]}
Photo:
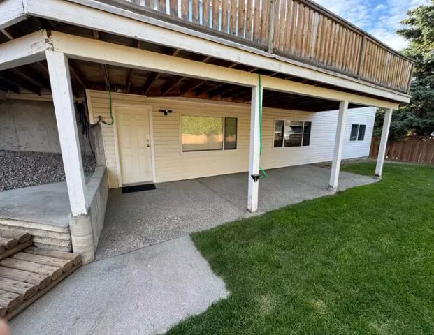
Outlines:
{"type": "Polygon", "coordinates": [[[383,87],[410,88],[410,59],[309,0],[117,2],[383,87]]]}

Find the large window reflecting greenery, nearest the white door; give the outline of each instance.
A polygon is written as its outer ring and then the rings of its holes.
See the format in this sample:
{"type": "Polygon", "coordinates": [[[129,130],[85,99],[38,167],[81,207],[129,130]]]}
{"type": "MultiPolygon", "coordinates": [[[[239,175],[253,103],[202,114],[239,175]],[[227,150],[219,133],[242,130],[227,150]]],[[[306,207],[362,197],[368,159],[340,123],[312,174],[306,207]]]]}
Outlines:
{"type": "Polygon", "coordinates": [[[182,115],[182,151],[236,149],[237,124],[236,117],[182,115]]]}

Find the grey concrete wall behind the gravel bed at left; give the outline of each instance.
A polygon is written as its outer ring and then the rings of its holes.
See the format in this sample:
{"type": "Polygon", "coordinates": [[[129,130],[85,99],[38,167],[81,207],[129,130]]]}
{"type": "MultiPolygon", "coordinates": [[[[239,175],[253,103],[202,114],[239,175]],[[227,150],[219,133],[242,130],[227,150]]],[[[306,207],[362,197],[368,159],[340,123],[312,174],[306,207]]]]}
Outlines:
{"type": "MultiPolygon", "coordinates": [[[[90,154],[79,126],[80,147],[90,154]]],[[[50,101],[8,100],[0,103],[0,150],[60,153],[55,108],[50,101]]]]}

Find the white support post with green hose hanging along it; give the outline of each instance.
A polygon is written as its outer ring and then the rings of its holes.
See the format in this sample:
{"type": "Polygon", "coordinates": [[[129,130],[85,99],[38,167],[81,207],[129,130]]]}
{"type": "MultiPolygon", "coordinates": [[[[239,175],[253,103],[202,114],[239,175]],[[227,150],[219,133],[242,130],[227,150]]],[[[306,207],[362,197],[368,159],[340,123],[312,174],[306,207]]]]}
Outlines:
{"type": "Polygon", "coordinates": [[[252,87],[252,106],[250,111],[250,154],[249,154],[249,188],[247,210],[254,213],[258,210],[259,193],[259,156],[261,134],[259,132],[259,95],[262,88],[252,87]]]}

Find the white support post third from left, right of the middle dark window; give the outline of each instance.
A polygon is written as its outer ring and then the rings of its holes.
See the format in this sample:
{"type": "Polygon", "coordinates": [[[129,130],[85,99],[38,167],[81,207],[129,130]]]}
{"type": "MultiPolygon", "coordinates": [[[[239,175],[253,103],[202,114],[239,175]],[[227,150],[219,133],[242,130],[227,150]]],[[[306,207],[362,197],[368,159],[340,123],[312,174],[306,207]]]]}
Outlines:
{"type": "Polygon", "coordinates": [[[338,188],[340,160],[342,158],[342,148],[344,146],[345,125],[347,121],[348,101],[339,103],[338,126],[336,128],[335,149],[333,151],[333,162],[331,164],[330,182],[328,188],[336,190],[338,188]]]}

